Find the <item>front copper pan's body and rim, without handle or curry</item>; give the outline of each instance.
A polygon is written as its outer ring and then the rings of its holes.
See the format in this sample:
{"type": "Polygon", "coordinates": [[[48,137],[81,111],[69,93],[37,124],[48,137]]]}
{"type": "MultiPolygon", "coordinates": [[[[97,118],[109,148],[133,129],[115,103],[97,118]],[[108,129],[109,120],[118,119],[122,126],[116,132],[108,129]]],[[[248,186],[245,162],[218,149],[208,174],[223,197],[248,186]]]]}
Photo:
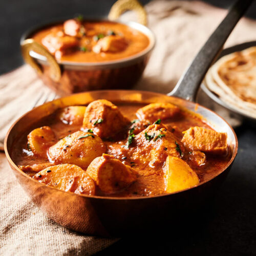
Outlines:
{"type": "MultiPolygon", "coordinates": [[[[140,91],[93,91],[70,95],[38,106],[19,118],[7,133],[5,153],[18,182],[32,201],[53,221],[67,228],[100,236],[125,236],[150,230],[159,231],[167,224],[177,224],[181,216],[197,209],[213,196],[224,181],[237,155],[237,136],[220,116],[214,112],[177,97],[140,91]],[[41,118],[59,108],[70,105],[87,105],[93,100],[105,98],[118,103],[170,102],[185,107],[204,117],[218,132],[226,132],[231,149],[231,159],[215,178],[197,187],[178,193],[138,198],[116,198],[78,195],[47,186],[32,179],[15,165],[11,151],[20,134],[28,133],[41,118]],[[195,111],[196,110],[196,111],[195,111]]],[[[186,217],[187,218],[187,217],[186,217]]]]}

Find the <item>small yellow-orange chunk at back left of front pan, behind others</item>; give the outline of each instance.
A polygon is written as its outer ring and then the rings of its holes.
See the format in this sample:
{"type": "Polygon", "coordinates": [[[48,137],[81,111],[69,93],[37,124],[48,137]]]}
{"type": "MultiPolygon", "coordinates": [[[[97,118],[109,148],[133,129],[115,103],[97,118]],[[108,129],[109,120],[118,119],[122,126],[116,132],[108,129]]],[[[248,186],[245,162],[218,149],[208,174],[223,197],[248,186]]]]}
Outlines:
{"type": "Polygon", "coordinates": [[[58,118],[66,124],[82,125],[86,106],[67,106],[58,111],[58,118]]]}

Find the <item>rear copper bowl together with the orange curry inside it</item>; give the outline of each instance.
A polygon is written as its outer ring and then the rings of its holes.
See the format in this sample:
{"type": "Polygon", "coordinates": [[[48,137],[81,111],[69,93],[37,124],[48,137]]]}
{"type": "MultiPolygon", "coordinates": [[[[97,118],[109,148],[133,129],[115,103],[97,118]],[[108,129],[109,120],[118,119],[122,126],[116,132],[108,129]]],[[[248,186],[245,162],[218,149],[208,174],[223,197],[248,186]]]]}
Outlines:
{"type": "Polygon", "coordinates": [[[78,16],[32,29],[20,44],[24,60],[45,84],[67,95],[131,88],[145,69],[155,37],[139,23],[78,16]]]}

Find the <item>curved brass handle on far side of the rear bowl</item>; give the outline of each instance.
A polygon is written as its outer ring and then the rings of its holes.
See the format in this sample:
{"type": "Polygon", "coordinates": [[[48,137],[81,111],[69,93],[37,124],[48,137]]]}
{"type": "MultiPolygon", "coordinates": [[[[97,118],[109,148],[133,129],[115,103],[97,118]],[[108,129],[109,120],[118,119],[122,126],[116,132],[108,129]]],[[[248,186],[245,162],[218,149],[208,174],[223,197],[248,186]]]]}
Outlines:
{"type": "Polygon", "coordinates": [[[110,9],[109,19],[116,20],[125,11],[135,11],[140,24],[147,25],[146,11],[137,0],[118,0],[110,9]]]}

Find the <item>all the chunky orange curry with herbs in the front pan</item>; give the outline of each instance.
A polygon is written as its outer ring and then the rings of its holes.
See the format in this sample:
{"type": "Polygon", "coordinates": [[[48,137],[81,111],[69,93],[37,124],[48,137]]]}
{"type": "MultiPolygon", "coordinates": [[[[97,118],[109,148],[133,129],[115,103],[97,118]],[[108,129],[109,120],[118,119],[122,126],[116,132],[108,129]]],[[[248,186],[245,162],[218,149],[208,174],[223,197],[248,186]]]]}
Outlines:
{"type": "Polygon", "coordinates": [[[226,133],[177,105],[117,105],[102,99],[59,109],[15,143],[15,163],[61,190],[138,197],[197,186],[231,158],[226,133]]]}

